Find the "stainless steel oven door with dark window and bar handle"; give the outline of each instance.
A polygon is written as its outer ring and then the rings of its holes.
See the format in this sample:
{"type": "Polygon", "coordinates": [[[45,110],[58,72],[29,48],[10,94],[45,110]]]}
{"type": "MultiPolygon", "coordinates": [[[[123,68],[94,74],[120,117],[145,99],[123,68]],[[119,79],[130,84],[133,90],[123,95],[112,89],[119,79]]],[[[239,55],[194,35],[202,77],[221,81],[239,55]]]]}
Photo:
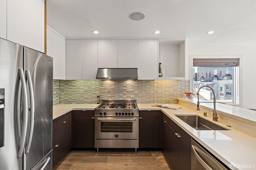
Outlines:
{"type": "Polygon", "coordinates": [[[94,139],[139,139],[139,117],[95,117],[94,139]]]}

